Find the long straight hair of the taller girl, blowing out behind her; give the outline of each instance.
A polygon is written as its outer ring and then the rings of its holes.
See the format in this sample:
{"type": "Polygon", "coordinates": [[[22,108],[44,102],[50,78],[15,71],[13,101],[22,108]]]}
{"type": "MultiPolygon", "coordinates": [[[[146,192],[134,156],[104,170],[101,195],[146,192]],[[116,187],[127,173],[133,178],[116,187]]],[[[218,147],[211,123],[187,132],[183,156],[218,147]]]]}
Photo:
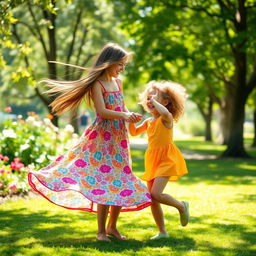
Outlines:
{"type": "Polygon", "coordinates": [[[40,83],[44,82],[48,87],[51,87],[51,89],[47,90],[45,93],[49,95],[58,95],[50,104],[52,111],[57,115],[61,115],[66,111],[77,108],[84,99],[84,96],[87,96],[87,100],[90,104],[93,84],[107,68],[119,63],[120,61],[127,61],[131,55],[131,52],[125,51],[119,45],[115,43],[108,43],[99,52],[92,68],[84,68],[71,64],[55,62],[58,64],[89,70],[89,74],[75,81],[42,79],[40,83]]]}

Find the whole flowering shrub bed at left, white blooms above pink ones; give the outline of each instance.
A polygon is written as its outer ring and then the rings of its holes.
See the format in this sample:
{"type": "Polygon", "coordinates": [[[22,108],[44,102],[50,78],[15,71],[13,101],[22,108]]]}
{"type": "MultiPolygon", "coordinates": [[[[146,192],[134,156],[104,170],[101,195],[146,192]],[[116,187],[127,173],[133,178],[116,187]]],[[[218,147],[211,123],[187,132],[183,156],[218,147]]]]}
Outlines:
{"type": "Polygon", "coordinates": [[[46,166],[76,140],[71,125],[59,129],[33,112],[25,120],[19,116],[0,123],[0,196],[28,191],[28,170],[46,166]]]}

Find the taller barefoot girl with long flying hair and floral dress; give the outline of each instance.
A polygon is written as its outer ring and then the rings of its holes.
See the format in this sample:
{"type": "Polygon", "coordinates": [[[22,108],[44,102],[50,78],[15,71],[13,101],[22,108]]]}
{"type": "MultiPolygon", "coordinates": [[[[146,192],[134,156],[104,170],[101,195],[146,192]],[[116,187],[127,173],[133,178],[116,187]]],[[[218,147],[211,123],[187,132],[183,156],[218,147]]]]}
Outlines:
{"type": "Polygon", "coordinates": [[[108,43],[84,78],[43,80],[50,86],[47,93],[57,96],[51,103],[57,115],[77,108],[87,98],[94,104],[96,119],[74,147],[28,175],[30,186],[50,202],[98,213],[97,239],[103,241],[111,241],[107,235],[126,239],[116,227],[120,211],[140,210],[151,204],[146,186],[132,173],[125,126],[125,121],[138,122],[141,115],[127,110],[118,79],[130,56],[119,45],[108,43]]]}

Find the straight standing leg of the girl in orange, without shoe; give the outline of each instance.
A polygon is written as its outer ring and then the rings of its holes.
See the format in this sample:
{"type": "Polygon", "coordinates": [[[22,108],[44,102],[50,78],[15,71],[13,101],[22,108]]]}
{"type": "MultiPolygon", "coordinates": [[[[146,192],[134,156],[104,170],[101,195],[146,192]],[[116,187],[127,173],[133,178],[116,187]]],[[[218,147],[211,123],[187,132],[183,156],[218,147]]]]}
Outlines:
{"type": "MultiPolygon", "coordinates": [[[[148,190],[150,193],[151,193],[153,184],[154,184],[154,181],[147,183],[148,190]]],[[[155,220],[155,223],[159,229],[159,232],[161,234],[166,234],[165,225],[164,225],[164,214],[163,214],[162,207],[161,207],[160,203],[158,203],[154,199],[152,199],[151,212],[152,212],[153,218],[155,220]]]]}

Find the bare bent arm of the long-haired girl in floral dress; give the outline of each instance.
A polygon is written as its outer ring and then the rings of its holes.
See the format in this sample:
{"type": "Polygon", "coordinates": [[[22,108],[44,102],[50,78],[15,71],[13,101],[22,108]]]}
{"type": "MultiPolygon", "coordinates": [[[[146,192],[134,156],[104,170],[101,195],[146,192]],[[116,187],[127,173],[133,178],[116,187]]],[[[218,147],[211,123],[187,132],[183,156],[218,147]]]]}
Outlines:
{"type": "Polygon", "coordinates": [[[93,100],[96,112],[102,118],[124,119],[125,121],[128,121],[128,122],[136,122],[138,119],[138,116],[133,112],[119,112],[119,111],[106,109],[104,99],[102,96],[102,89],[98,82],[96,82],[92,87],[92,100],[93,100]]]}

